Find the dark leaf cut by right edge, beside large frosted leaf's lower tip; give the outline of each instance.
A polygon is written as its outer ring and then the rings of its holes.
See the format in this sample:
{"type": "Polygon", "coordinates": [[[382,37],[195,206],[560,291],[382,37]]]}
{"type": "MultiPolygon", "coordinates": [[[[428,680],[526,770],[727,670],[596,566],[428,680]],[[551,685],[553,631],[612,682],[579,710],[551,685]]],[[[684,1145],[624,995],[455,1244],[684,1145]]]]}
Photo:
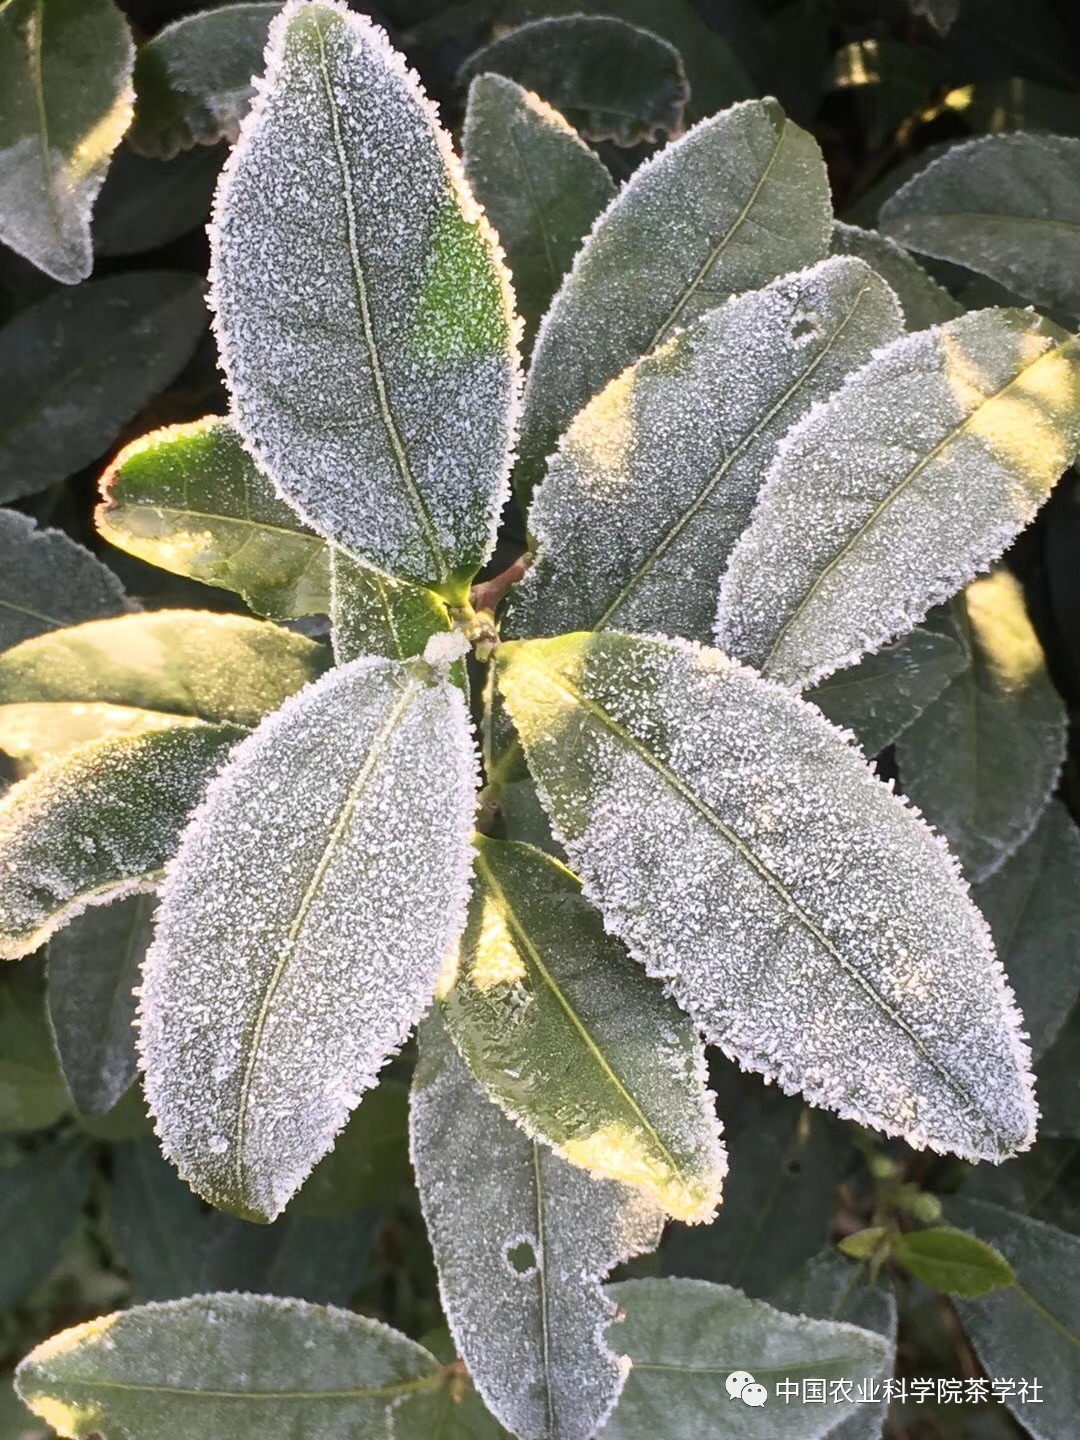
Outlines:
{"type": "Polygon", "coordinates": [[[1030,838],[972,891],[1038,1060],[1080,996],[1080,834],[1051,801],[1030,838]]]}

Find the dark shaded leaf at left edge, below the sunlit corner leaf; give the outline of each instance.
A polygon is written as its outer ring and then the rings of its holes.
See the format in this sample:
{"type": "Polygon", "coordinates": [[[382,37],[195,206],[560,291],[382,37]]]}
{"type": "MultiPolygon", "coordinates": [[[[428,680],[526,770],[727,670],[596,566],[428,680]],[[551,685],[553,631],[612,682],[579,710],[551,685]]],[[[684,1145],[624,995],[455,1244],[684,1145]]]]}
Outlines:
{"type": "Polygon", "coordinates": [[[0,501],[96,459],[183,369],[204,330],[200,281],[179,271],[89,281],[4,325],[0,501]]]}

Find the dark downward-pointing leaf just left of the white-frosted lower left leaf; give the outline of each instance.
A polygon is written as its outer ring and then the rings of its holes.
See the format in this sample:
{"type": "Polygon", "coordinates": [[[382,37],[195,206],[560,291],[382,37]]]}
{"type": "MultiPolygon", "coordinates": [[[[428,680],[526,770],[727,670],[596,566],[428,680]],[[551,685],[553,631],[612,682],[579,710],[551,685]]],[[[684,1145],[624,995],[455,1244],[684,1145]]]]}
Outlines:
{"type": "Polygon", "coordinates": [[[154,930],[137,894],[86,910],[49,942],[49,1024],[72,1100],[105,1115],[138,1071],[135,986],[154,930]]]}

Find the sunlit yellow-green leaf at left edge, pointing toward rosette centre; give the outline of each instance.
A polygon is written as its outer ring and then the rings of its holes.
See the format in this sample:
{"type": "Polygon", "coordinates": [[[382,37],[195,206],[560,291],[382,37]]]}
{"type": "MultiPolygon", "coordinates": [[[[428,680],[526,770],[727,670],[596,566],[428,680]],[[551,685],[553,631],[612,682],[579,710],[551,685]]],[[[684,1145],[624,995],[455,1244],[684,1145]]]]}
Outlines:
{"type": "Polygon", "coordinates": [[[242,615],[120,615],[37,635],[0,655],[0,707],[120,706],[255,726],[321,675],[327,660],[314,641],[242,615]]]}

